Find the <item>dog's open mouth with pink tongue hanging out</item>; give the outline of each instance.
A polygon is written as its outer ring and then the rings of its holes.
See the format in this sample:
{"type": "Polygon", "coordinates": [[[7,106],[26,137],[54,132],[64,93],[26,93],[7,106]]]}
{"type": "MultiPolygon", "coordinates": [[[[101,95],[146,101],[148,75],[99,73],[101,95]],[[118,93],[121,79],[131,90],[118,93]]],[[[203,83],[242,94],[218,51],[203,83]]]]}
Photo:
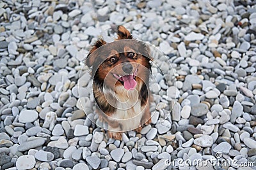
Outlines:
{"type": "Polygon", "coordinates": [[[138,73],[138,68],[132,74],[126,74],[124,76],[120,76],[118,74],[113,73],[113,76],[124,85],[126,90],[133,90],[136,85],[136,75],[138,73]]]}

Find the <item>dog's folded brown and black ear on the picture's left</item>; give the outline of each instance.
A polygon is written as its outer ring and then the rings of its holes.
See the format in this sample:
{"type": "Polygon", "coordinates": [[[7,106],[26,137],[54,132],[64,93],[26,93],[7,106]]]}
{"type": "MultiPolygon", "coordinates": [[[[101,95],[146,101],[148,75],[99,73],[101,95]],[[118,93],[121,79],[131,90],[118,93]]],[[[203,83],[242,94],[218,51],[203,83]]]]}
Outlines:
{"type": "Polygon", "coordinates": [[[97,57],[97,52],[95,52],[100,46],[106,44],[106,41],[104,41],[102,38],[99,38],[92,46],[92,49],[88,53],[86,57],[86,65],[88,67],[91,67],[93,65],[93,62],[95,62],[97,57]]]}

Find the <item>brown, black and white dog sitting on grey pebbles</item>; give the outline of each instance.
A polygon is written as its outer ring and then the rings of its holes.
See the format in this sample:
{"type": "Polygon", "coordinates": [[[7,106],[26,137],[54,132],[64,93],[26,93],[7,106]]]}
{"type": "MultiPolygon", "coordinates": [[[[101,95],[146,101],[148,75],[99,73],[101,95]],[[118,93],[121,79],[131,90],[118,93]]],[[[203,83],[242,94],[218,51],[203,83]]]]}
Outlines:
{"type": "Polygon", "coordinates": [[[99,118],[108,123],[108,136],[122,140],[122,132],[151,123],[149,110],[150,50],[120,25],[111,43],[99,38],[85,63],[92,67],[93,95],[99,118]]]}

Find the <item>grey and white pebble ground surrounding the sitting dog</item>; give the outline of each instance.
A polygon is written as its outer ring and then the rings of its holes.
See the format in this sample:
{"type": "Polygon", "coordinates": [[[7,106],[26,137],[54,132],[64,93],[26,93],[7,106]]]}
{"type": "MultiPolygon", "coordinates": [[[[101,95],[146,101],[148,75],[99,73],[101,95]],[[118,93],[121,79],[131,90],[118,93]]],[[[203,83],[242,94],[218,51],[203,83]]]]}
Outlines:
{"type": "Polygon", "coordinates": [[[3,0],[0,20],[1,169],[256,169],[255,1],[3,0]],[[123,141],[100,128],[82,62],[112,25],[166,54],[152,124],[123,141]]]}

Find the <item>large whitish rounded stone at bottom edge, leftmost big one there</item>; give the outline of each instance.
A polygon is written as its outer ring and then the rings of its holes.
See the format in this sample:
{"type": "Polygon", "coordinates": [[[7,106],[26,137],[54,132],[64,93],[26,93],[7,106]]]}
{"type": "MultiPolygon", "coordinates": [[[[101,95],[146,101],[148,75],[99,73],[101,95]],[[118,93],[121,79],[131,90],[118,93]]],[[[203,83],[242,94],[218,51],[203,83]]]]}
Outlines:
{"type": "Polygon", "coordinates": [[[35,164],[36,164],[36,160],[33,155],[23,155],[18,157],[16,161],[16,168],[18,170],[32,169],[35,166],[35,164]]]}

